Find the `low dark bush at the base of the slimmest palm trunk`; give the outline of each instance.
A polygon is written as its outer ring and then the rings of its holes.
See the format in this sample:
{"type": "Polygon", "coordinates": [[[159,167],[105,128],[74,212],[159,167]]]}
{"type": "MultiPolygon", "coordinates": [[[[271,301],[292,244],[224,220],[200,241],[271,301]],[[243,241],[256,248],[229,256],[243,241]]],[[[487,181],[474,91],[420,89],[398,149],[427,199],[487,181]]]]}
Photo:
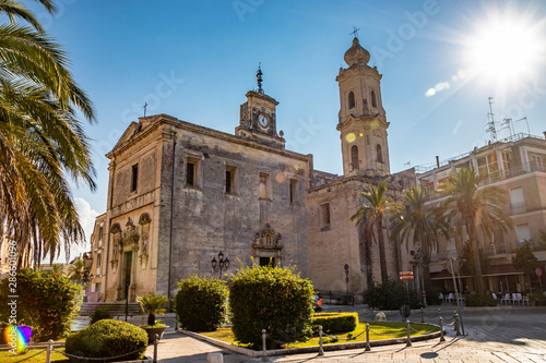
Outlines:
{"type": "Polygon", "coordinates": [[[399,310],[402,305],[410,305],[411,308],[422,306],[417,291],[410,289],[408,292],[405,283],[395,280],[389,280],[365,291],[364,303],[380,310],[399,310]]]}

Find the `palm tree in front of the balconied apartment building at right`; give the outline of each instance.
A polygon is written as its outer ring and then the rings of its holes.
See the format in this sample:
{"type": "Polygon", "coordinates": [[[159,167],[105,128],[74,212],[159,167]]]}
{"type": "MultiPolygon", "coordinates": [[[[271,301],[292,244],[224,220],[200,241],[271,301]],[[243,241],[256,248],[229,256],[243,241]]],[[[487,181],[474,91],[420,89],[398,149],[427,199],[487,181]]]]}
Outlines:
{"type": "Polygon", "coordinates": [[[440,193],[448,195],[443,208],[452,223],[458,250],[461,251],[464,242],[470,241],[477,293],[484,292],[479,235],[484,241],[492,241],[512,228],[512,220],[502,209],[507,203],[505,191],[497,186],[478,187],[484,177],[477,176],[474,168],[461,168],[438,187],[440,193]]]}

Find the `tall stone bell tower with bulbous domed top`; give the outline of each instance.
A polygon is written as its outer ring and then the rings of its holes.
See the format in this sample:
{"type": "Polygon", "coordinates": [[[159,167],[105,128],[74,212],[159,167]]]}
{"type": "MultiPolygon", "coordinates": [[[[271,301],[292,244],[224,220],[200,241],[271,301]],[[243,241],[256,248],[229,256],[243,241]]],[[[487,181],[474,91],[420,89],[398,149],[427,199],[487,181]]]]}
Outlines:
{"type": "Polygon", "coordinates": [[[387,116],[381,101],[381,77],[376,66],[368,65],[370,53],[358,38],[345,52],[348,68],[340,68],[335,78],[340,85],[340,120],[343,174],[358,170],[390,173],[387,116]]]}

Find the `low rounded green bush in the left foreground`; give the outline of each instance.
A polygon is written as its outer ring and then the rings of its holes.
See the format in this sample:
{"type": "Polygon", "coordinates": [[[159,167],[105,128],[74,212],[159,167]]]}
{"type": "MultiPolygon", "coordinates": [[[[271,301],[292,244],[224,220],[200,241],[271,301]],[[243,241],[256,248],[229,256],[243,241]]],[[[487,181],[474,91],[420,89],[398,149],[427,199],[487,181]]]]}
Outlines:
{"type": "Polygon", "coordinates": [[[126,322],[103,319],[67,338],[66,351],[85,358],[109,358],[127,354],[119,359],[100,362],[131,361],[141,359],[147,348],[144,329],[126,322]],[[134,352],[136,351],[136,352],[134,352]],[[134,352],[132,354],[128,354],[134,352]]]}

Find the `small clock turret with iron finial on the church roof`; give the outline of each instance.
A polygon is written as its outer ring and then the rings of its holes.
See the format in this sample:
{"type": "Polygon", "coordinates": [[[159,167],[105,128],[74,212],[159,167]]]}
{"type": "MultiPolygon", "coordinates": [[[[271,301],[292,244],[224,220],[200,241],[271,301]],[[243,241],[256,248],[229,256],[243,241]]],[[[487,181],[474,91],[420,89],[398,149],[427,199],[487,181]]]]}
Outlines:
{"type": "Polygon", "coordinates": [[[247,101],[240,106],[239,125],[235,134],[254,142],[284,148],[283,132],[276,132],[275,109],[278,102],[264,94],[262,88],[262,70],[256,73],[258,89],[247,92],[247,101]]]}

